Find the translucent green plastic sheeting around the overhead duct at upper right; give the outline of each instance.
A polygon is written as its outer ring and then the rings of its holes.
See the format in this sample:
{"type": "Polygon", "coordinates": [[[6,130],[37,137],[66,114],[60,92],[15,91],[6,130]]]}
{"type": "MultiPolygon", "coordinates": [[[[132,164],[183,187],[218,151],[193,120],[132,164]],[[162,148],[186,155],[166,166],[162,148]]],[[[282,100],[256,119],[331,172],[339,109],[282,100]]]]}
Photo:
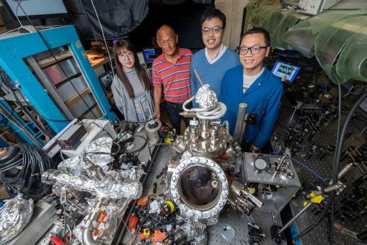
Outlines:
{"type": "Polygon", "coordinates": [[[308,58],[316,55],[334,83],[367,82],[367,9],[333,10],[307,18],[277,3],[251,1],[246,26],[268,30],[272,47],[294,48],[308,58]]]}

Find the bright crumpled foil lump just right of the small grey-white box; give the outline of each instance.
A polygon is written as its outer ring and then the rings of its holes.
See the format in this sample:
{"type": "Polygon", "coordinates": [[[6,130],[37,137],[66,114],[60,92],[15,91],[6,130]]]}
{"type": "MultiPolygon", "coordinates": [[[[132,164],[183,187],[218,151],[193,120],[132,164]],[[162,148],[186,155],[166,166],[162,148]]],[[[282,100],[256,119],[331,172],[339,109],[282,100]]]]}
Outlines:
{"type": "Polygon", "coordinates": [[[104,166],[109,164],[114,160],[114,158],[111,156],[112,143],[113,140],[111,137],[101,137],[93,140],[84,148],[85,154],[93,152],[103,152],[107,153],[108,155],[89,154],[86,155],[86,158],[95,165],[104,166]]]}

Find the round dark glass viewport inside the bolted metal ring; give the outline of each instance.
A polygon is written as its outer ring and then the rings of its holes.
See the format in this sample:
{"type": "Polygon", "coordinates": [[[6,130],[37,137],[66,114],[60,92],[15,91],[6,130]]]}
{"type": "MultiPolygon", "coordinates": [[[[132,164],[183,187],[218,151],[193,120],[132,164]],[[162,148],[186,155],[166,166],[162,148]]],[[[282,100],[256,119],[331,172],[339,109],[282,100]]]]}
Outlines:
{"type": "Polygon", "coordinates": [[[216,206],[222,193],[222,183],[218,175],[203,165],[192,165],[184,170],[178,179],[177,187],[181,201],[200,211],[216,206]]]}

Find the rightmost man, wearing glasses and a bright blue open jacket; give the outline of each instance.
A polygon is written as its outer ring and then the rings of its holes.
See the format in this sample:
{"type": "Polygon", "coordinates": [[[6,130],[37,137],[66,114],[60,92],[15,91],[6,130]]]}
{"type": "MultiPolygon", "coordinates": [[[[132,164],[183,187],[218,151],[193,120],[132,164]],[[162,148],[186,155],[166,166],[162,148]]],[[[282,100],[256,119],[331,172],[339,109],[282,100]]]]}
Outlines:
{"type": "Polygon", "coordinates": [[[269,144],[278,117],[283,85],[264,65],[270,52],[270,35],[263,28],[247,31],[240,42],[241,65],[226,71],[219,101],[227,106],[223,120],[228,120],[233,135],[239,103],[246,103],[246,113],[257,113],[256,125],[247,125],[244,151],[259,151],[269,144]],[[247,149],[246,149],[247,148],[247,149]]]}

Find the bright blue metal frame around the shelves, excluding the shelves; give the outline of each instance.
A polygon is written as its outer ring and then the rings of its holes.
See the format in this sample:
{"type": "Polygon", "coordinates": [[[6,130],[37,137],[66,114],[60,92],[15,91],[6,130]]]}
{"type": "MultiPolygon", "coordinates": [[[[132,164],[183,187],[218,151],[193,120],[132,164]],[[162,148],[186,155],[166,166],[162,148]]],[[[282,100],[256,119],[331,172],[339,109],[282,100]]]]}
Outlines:
{"type": "MultiPolygon", "coordinates": [[[[56,27],[42,30],[40,34],[50,48],[70,45],[76,62],[80,65],[102,109],[103,117],[116,120],[116,115],[110,111],[111,106],[109,101],[89,63],[75,28],[73,26],[56,27]]],[[[61,111],[23,61],[26,57],[47,50],[47,46],[37,32],[19,34],[4,39],[1,39],[0,36],[0,66],[3,67],[15,84],[19,85],[21,92],[42,116],[54,120],[65,120],[61,111]]],[[[67,121],[48,120],[47,122],[56,133],[60,132],[67,125],[67,121]]]]}

